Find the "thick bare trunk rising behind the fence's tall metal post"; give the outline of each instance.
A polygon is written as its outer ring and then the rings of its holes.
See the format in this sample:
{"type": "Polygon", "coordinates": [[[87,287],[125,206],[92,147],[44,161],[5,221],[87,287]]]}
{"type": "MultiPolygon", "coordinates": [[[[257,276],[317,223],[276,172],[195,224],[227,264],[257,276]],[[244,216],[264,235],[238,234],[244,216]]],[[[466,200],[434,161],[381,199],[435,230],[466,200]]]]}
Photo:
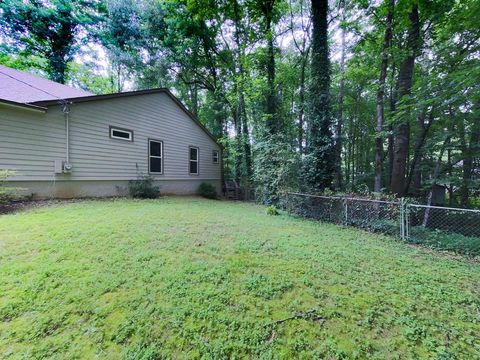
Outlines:
{"type": "MultiPolygon", "coordinates": [[[[398,73],[398,99],[397,102],[404,102],[410,95],[413,82],[413,70],[415,58],[417,56],[418,42],[420,40],[420,20],[418,15],[418,5],[412,6],[409,15],[410,30],[407,38],[407,47],[409,54],[402,61],[398,73]]],[[[398,109],[398,106],[397,106],[398,109]]],[[[401,110],[404,111],[404,110],[401,110]]],[[[406,116],[402,114],[401,117],[406,116]]],[[[405,173],[407,166],[408,147],[410,142],[410,126],[408,118],[400,119],[395,129],[394,154],[392,179],[390,183],[391,190],[398,197],[402,197],[405,192],[405,173]]]]}

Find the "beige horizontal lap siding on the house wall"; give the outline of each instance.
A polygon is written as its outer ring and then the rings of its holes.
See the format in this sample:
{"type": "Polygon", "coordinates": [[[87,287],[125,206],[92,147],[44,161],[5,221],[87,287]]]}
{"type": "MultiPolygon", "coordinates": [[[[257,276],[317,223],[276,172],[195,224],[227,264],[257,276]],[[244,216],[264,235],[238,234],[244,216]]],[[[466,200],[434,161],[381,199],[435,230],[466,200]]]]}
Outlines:
{"type": "Polygon", "coordinates": [[[73,171],[69,175],[53,174],[54,160],[65,157],[64,118],[59,106],[49,107],[46,114],[32,116],[18,111],[5,119],[2,112],[0,129],[5,129],[0,134],[0,168],[16,165],[22,173],[17,180],[134,179],[137,169],[148,172],[148,139],[163,141],[164,171],[162,175],[152,174],[154,178],[221,178],[220,164],[212,161],[212,151],[220,150],[218,145],[165,93],[73,104],[70,111],[73,171]],[[132,130],[134,141],[110,138],[110,126],[132,130]],[[8,143],[4,144],[7,138],[8,143]],[[188,173],[189,146],[200,149],[199,175],[188,173]],[[37,152],[41,155],[29,158],[37,152]]]}

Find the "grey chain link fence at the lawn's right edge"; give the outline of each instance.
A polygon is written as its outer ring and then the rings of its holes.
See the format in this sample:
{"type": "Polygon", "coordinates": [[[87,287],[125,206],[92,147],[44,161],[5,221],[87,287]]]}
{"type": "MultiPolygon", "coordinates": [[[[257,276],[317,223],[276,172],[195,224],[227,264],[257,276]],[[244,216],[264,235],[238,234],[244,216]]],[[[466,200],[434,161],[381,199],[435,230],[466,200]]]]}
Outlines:
{"type": "Polygon", "coordinates": [[[374,199],[287,193],[282,206],[305,218],[354,226],[407,242],[480,255],[480,210],[374,199]]]}

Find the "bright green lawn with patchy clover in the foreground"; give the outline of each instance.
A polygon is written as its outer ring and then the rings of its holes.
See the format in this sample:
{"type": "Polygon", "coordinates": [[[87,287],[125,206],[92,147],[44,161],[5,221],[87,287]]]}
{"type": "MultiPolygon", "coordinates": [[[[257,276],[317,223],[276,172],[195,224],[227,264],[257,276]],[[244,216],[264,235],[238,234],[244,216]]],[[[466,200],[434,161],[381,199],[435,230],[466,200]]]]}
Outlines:
{"type": "Polygon", "coordinates": [[[0,358],[50,357],[478,359],[480,265],[197,198],[0,216],[0,358]]]}

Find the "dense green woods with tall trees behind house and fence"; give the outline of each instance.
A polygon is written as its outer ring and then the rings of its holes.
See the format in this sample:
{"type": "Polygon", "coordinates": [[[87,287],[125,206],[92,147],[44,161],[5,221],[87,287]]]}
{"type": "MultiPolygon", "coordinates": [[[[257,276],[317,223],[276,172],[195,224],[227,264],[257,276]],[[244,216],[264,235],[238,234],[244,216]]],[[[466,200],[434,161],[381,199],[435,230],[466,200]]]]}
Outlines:
{"type": "Polygon", "coordinates": [[[480,0],[4,0],[0,64],[97,94],[167,87],[227,178],[478,206],[480,0]],[[431,198],[431,195],[430,195],[431,198]]]}

